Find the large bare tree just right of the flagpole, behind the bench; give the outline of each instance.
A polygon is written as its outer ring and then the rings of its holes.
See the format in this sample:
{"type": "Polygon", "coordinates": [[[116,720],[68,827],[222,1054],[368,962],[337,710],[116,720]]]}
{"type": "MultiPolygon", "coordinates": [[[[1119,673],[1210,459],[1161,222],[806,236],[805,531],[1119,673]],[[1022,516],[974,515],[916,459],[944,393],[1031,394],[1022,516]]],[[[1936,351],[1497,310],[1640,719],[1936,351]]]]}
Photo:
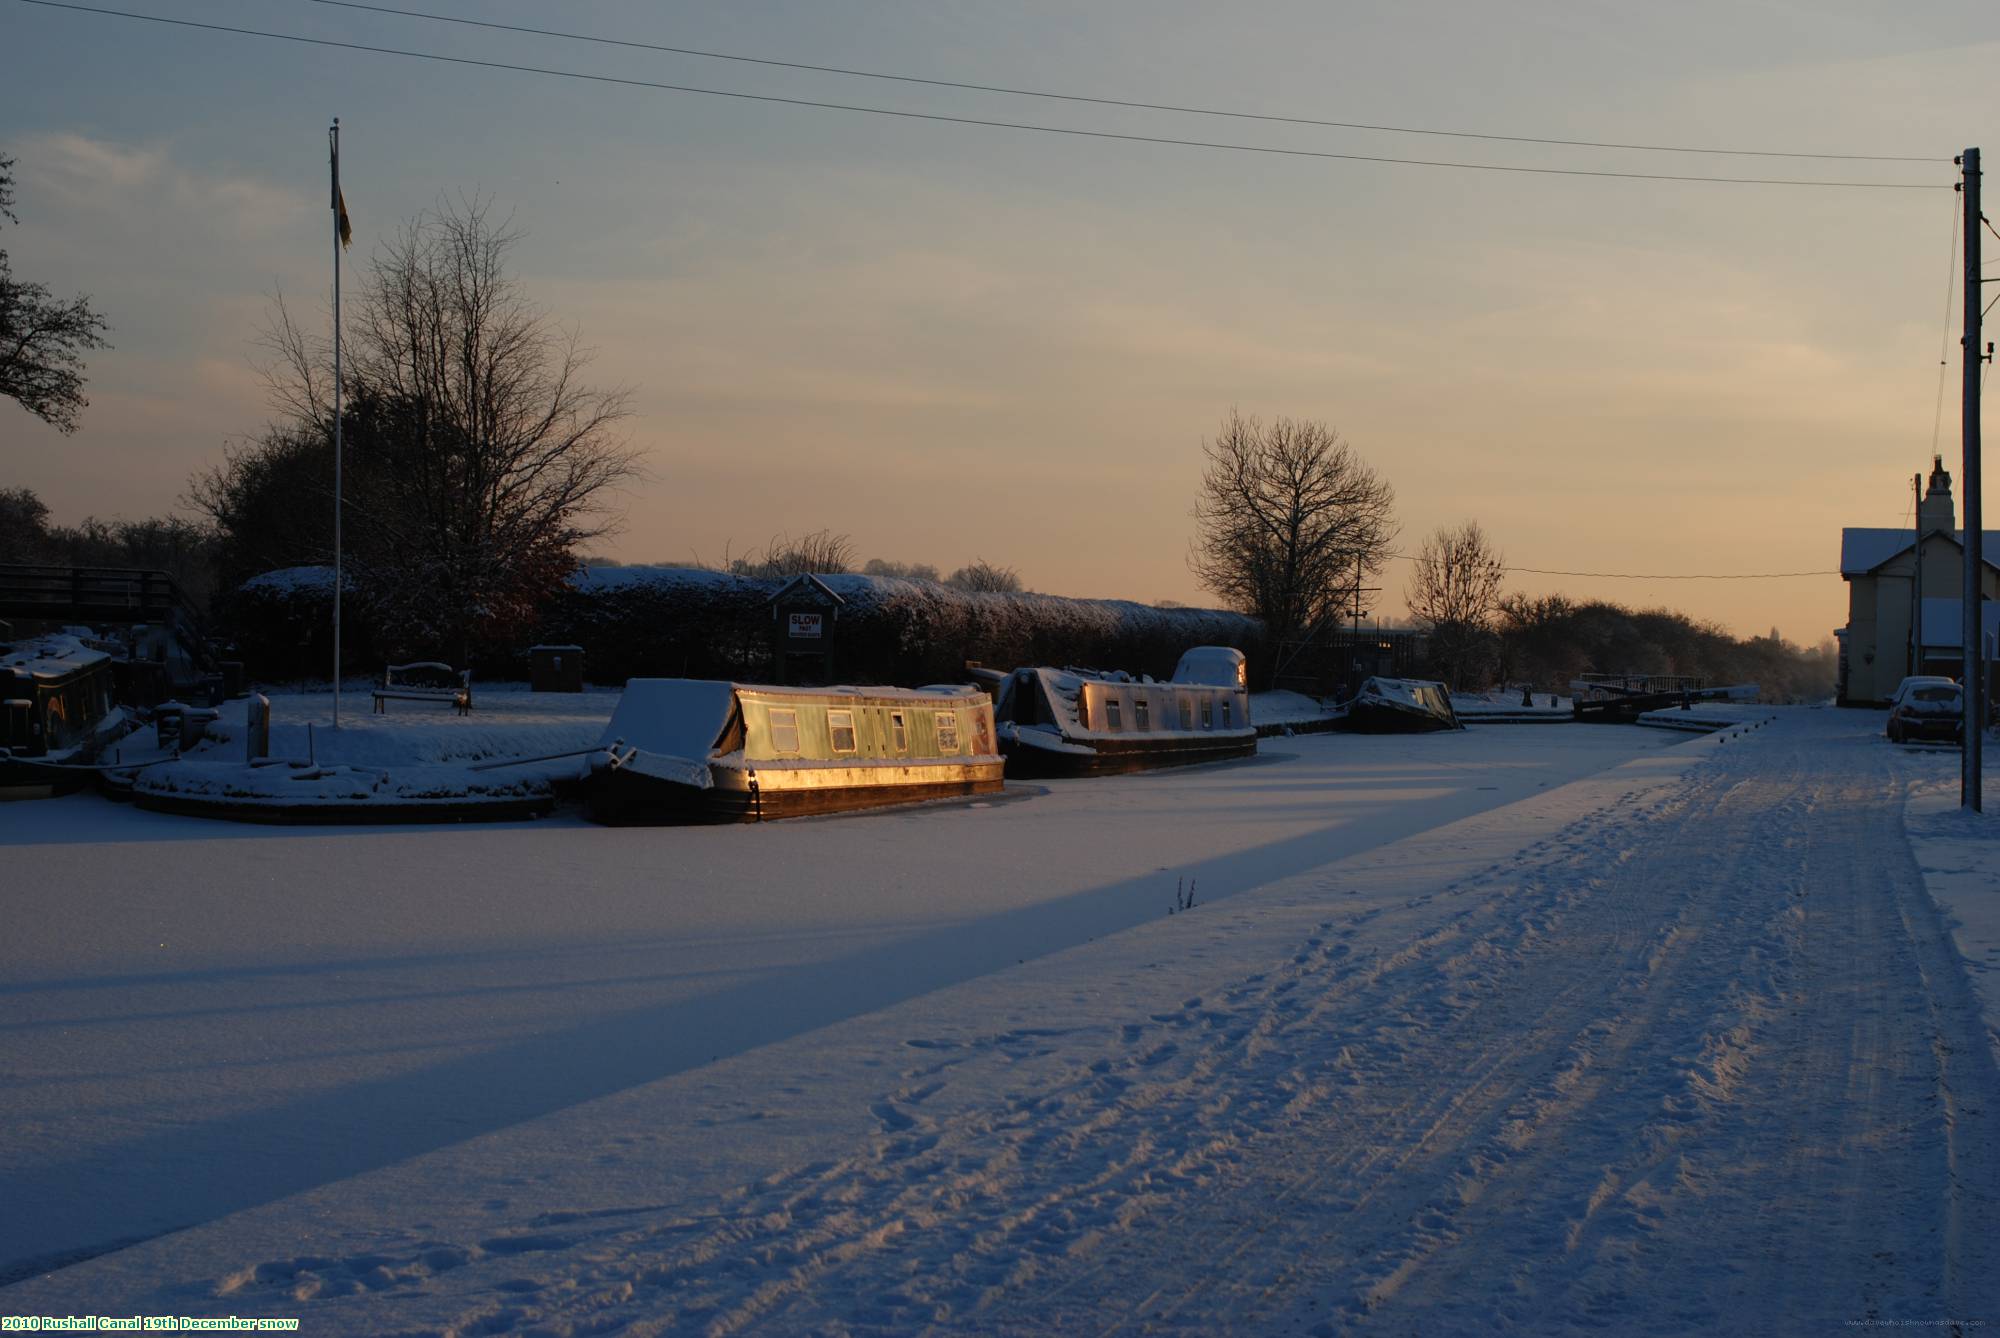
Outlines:
{"type": "MultiPolygon", "coordinates": [[[[374,258],[348,328],[342,412],[354,578],[390,644],[502,640],[614,530],[638,476],[626,392],[508,274],[520,240],[480,198],[442,202],[374,258]]],[[[276,306],[272,396],[330,436],[328,348],[276,306]]]]}

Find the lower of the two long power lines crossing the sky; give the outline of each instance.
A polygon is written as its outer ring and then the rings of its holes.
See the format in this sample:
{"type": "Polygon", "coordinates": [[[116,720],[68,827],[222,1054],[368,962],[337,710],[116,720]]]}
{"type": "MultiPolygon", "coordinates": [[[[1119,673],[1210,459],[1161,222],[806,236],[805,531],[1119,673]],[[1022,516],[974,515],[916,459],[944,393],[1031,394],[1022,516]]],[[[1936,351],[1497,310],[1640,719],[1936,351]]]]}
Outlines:
{"type": "Polygon", "coordinates": [[[624,88],[654,88],[660,92],[692,92],[708,98],[734,98],[740,102],[768,102],[778,106],[806,106],[826,112],[858,112],[864,116],[894,116],[898,120],[930,120],[950,126],[986,126],[992,130],[1022,130],[1034,134],[1064,134],[1082,140],[1118,140],[1126,144],[1170,144],[1176,148],[1214,148],[1238,154],[1268,154],[1274,158],[1322,158],[1336,162],[1384,162],[1400,164],[1412,168],[1456,168],[1460,172],[1516,172],[1526,176],[1596,176],[1596,178],[1616,178],[1616,180],[1636,180],[1636,182],[1706,182],[1724,186],[1814,186],[1814,188],[1834,188],[1834,190],[1944,190],[1942,184],[1928,182],[1840,182],[1840,180],[1800,180],[1782,176],[1696,176],[1696,174],[1672,174],[1672,172],[1606,172],[1596,168],[1530,168],[1520,164],[1494,164],[1494,162],[1448,162],[1434,158],[1390,158],[1386,154],[1336,154],[1328,150],[1314,148],[1276,148],[1270,144],[1230,144],[1222,140],[1180,140],[1158,134],[1120,134],[1114,130],[1076,130],[1070,126],[1040,126],[1032,122],[1016,120],[986,120],[978,116],[946,116],[942,112],[906,112],[886,106],[862,106],[854,102],[818,102],[812,98],[780,98],[776,94],[760,92],[736,92],[726,88],[700,88],[694,84],[664,84],[656,80],[640,78],[620,78],[616,74],[584,74],[580,70],[556,70],[550,66],[526,66],[512,64],[506,60],[474,60],[472,56],[444,56],[438,52],[416,52],[398,46],[370,46],[366,42],[336,42],[332,38],[308,38],[294,32],[266,32],[260,28],[234,28],[230,24],[204,24],[192,18],[164,18],[160,14],[134,14],[130,10],[110,10],[90,4],[70,4],[68,0],[20,0],[20,4],[34,4],[50,10],[72,10],[78,14],[102,14],[108,18],[132,18],[148,24],[168,24],[174,28],[198,28],[204,32],[228,32],[248,38],[268,38],[272,42],[296,42],[302,46],[328,46],[336,50],[350,52],[372,52],[378,56],[406,56],[410,60],[436,60],[440,64],[472,66],[482,70],[510,70],[514,74],[546,74],[550,78],[570,78],[584,80],[592,84],[618,84],[624,88]]]}

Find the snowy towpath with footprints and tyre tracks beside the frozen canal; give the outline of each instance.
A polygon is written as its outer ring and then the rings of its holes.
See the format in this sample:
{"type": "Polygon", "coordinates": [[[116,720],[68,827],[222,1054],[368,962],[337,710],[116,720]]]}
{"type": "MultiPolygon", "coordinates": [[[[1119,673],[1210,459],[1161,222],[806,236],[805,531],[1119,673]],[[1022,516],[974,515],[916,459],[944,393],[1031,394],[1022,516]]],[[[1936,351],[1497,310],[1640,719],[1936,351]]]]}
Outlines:
{"type": "Polygon", "coordinates": [[[338,1332],[1994,1324],[2000,1080],[1904,838],[1912,762],[1868,724],[1700,740],[0,1308],[338,1332]]]}

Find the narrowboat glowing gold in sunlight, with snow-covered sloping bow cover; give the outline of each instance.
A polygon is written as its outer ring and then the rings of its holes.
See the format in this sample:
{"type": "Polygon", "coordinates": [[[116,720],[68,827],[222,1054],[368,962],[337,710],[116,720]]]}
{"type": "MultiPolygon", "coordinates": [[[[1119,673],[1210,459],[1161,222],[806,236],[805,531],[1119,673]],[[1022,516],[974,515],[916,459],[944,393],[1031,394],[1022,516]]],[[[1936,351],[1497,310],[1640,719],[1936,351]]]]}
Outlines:
{"type": "Polygon", "coordinates": [[[584,790],[594,820],[758,822],[1000,788],[972,686],[778,688],[634,678],[584,790]]]}

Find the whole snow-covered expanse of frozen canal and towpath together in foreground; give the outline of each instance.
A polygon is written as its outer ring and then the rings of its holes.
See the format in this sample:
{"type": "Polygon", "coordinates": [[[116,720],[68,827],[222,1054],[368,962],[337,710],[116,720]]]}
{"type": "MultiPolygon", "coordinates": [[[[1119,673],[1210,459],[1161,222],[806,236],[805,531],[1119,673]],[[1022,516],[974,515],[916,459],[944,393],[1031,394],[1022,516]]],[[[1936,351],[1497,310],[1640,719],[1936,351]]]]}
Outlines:
{"type": "Polygon", "coordinates": [[[1936,758],[1776,714],[768,828],[0,810],[0,1258],[148,1236],[0,1312],[1996,1322],[1990,1020],[1904,836],[1936,758]]]}

